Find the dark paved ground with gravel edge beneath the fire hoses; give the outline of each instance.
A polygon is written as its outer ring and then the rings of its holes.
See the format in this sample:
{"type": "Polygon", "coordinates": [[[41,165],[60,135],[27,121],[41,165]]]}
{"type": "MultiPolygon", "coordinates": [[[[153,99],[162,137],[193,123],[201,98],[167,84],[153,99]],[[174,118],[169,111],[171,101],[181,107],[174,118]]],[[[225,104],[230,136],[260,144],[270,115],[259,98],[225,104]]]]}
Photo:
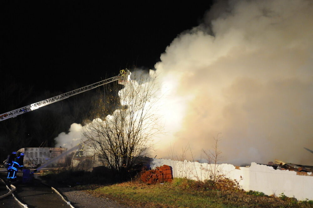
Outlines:
{"type": "MultiPolygon", "coordinates": [[[[6,178],[6,169],[0,168],[0,177],[6,178]]],[[[22,173],[18,173],[18,180],[13,183],[17,190],[14,192],[16,197],[29,208],[60,208],[69,207],[59,195],[57,195],[50,187],[42,184],[38,179],[34,179],[30,184],[23,184],[22,173]]],[[[56,187],[54,187],[56,188],[56,187]]],[[[75,208],[129,208],[118,204],[114,200],[108,198],[95,197],[82,190],[73,190],[72,188],[58,188],[64,196],[71,202],[75,208]]],[[[0,196],[8,193],[5,185],[0,182],[0,196]]],[[[21,208],[12,197],[12,195],[0,199],[0,207],[2,208],[21,208]]]]}

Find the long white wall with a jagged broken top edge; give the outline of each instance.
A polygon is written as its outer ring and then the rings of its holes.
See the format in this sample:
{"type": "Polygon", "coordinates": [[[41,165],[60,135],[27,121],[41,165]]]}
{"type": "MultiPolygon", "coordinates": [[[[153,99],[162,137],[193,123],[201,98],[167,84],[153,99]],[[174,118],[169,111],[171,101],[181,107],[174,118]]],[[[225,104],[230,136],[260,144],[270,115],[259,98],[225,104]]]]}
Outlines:
{"type": "Polygon", "coordinates": [[[170,159],[153,159],[151,168],[169,165],[173,169],[173,177],[193,180],[210,179],[214,168],[218,174],[239,181],[245,191],[254,190],[266,195],[281,193],[298,200],[313,200],[313,175],[297,175],[295,171],[275,170],[273,167],[251,163],[250,167],[236,169],[231,164],[207,164],[188,161],[173,161],[170,159]]]}

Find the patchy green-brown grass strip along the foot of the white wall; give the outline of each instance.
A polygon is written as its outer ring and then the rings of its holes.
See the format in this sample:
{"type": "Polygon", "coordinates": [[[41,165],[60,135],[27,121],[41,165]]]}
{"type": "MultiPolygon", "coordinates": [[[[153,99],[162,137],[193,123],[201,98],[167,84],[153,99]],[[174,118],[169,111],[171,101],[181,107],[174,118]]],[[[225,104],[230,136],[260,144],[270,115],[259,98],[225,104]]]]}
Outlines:
{"type": "Polygon", "coordinates": [[[281,197],[267,196],[257,191],[245,192],[236,187],[229,187],[229,180],[225,180],[224,185],[226,185],[222,187],[213,185],[212,181],[201,182],[188,179],[174,179],[172,183],[155,185],[133,181],[95,187],[88,192],[133,207],[312,207],[309,200],[297,201],[295,198],[281,199],[281,197]]]}

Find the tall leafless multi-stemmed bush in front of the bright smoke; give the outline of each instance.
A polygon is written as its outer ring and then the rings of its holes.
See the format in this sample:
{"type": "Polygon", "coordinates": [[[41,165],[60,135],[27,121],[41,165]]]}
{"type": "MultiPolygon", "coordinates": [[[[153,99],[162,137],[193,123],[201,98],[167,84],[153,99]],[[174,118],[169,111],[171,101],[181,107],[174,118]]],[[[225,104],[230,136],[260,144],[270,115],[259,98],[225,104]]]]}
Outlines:
{"type": "MultiPolygon", "coordinates": [[[[153,74],[153,73],[152,73],[153,74]]],[[[95,153],[104,165],[119,172],[129,171],[138,157],[151,148],[151,138],[160,133],[157,101],[159,87],[156,75],[139,74],[135,81],[119,91],[120,101],[112,92],[119,89],[117,84],[109,86],[105,95],[96,102],[96,116],[84,129],[85,141],[95,148],[95,153]]]]}

